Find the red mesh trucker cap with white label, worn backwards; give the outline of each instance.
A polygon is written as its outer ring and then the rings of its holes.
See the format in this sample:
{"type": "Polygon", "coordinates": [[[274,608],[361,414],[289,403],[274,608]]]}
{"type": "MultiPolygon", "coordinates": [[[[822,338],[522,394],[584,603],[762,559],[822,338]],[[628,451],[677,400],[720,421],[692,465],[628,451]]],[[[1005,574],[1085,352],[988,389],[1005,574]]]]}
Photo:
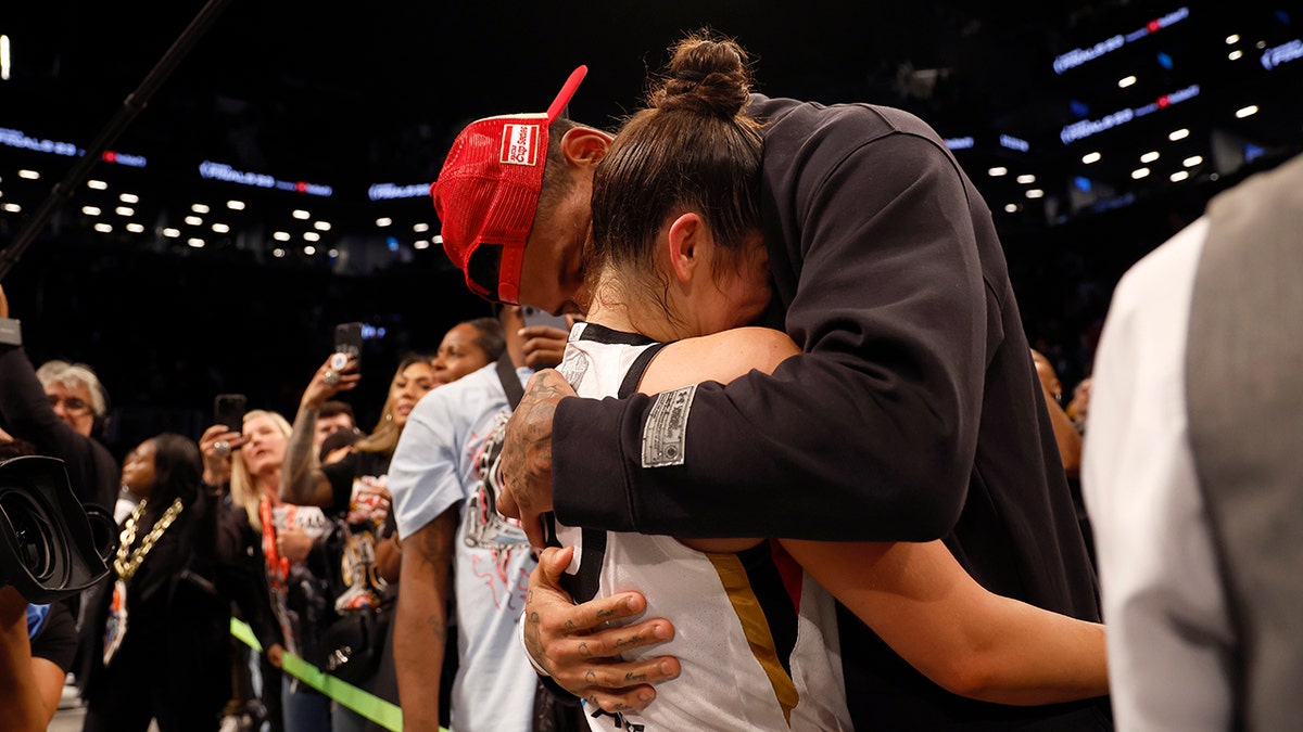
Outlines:
{"type": "Polygon", "coordinates": [[[547,129],[586,73],[588,66],[575,69],[547,112],[466,125],[430,186],[443,225],[443,250],[480,297],[520,303],[525,242],[547,163],[547,129]]]}

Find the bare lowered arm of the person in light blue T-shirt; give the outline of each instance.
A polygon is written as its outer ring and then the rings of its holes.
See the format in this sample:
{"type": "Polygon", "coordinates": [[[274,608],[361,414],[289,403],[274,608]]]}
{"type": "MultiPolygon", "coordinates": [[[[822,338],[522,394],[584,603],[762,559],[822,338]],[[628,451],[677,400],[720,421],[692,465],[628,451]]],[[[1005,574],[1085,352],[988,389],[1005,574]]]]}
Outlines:
{"type": "Polygon", "coordinates": [[[439,729],[448,574],[456,533],[457,509],[453,507],[403,539],[403,591],[394,626],[394,664],[403,729],[408,732],[439,729]]]}

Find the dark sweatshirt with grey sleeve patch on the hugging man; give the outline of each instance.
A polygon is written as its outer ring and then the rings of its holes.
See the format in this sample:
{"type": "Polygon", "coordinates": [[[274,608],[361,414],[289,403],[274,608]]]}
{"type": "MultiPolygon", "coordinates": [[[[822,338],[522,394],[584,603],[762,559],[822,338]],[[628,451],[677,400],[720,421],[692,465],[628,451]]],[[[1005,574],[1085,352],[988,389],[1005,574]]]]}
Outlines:
{"type": "MultiPolygon", "coordinates": [[[[767,121],[775,324],[804,353],[773,376],[698,387],[680,466],[641,468],[649,397],[563,400],[558,520],[679,537],[943,538],[989,590],[1097,620],[1003,251],[972,182],[898,109],[754,96],[751,112],[767,121]]],[[[1106,701],[1023,709],[949,694],[843,615],[856,728],[1108,725],[1106,701]]]]}

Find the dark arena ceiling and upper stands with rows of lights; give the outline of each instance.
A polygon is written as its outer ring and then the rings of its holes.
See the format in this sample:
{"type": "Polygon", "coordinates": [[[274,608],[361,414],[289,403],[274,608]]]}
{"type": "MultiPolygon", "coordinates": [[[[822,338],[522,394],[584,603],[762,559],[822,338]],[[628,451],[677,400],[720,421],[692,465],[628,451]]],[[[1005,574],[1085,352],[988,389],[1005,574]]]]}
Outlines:
{"type": "MultiPolygon", "coordinates": [[[[0,9],[0,247],[202,8],[43,0],[0,9]]],[[[265,290],[289,283],[319,288],[304,318],[326,339],[336,318],[410,324],[413,306],[386,300],[395,288],[384,276],[405,275],[425,277],[420,307],[442,332],[481,306],[450,272],[425,194],[456,132],[481,116],[542,111],[579,64],[590,70],[571,116],[612,128],[665,48],[702,26],[748,48],[760,91],[902,107],[929,121],[985,197],[1015,270],[1028,251],[1044,258],[1045,247],[1080,250],[1089,240],[1104,249],[1121,227],[1138,236],[1114,247],[1119,270],[1216,191],[1303,150],[1299,1],[231,0],[4,287],[29,317],[48,311],[63,337],[103,343],[108,326],[85,324],[102,302],[86,301],[83,272],[112,274],[125,292],[138,284],[122,280],[132,267],[175,266],[165,277],[222,297],[236,319],[305,296],[259,298],[214,277],[265,290]],[[348,279],[388,284],[356,290],[340,285],[348,279]],[[370,298],[370,310],[349,311],[341,297],[370,298]]],[[[1035,281],[1023,287],[1036,297],[1035,281]]],[[[186,322],[195,327],[223,322],[194,310],[186,322]]],[[[210,386],[228,384],[214,376],[210,386]]]]}

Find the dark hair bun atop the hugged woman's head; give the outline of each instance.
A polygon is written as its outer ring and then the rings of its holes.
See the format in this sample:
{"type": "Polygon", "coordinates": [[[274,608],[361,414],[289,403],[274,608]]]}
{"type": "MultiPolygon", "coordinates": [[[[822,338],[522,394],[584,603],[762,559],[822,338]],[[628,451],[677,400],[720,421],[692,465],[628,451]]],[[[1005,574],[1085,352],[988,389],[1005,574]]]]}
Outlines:
{"type": "Polygon", "coordinates": [[[659,85],[648,94],[650,107],[731,119],[751,95],[745,52],[737,43],[697,31],[670,49],[659,85]]]}

